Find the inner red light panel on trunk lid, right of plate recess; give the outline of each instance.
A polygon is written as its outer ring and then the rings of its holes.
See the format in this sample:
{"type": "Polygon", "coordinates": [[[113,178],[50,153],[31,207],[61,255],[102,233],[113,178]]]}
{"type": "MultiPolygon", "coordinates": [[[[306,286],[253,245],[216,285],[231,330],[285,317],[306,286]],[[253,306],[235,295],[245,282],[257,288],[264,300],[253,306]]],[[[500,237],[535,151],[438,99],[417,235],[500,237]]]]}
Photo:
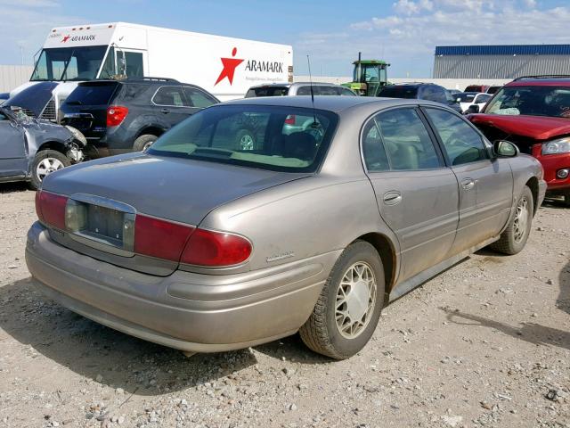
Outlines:
{"type": "Polygon", "coordinates": [[[178,261],[195,227],[137,214],[134,219],[134,252],[178,261]]]}

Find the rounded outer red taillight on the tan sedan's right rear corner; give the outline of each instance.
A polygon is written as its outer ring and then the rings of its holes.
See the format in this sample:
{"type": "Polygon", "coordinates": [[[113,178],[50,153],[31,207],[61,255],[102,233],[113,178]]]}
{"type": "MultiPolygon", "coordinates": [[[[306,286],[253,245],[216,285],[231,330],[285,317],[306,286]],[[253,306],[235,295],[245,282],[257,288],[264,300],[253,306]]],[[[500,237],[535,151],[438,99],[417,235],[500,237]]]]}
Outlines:
{"type": "Polygon", "coordinates": [[[243,236],[196,229],[180,261],[208,267],[233,266],[249,259],[251,251],[251,243],[243,236]]]}

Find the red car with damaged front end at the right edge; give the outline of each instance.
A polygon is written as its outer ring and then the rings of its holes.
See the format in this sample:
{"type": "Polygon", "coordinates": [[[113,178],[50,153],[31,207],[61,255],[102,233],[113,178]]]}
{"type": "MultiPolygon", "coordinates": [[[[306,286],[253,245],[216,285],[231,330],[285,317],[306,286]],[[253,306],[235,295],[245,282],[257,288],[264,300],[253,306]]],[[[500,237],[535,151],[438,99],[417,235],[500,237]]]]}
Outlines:
{"type": "Polygon", "coordinates": [[[509,140],[541,161],[548,192],[570,207],[570,76],[517,78],[468,119],[491,141],[509,140]]]}

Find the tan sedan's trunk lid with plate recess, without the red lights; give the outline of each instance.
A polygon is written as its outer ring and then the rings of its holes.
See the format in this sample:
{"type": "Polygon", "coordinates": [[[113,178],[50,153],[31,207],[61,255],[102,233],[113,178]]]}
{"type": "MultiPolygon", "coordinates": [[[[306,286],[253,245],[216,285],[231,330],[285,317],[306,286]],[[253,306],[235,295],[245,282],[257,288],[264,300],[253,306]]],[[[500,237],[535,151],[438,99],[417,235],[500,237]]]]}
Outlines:
{"type": "Polygon", "coordinates": [[[87,218],[77,231],[53,231],[54,241],[118,266],[169,275],[177,260],[141,256],[129,246],[132,229],[125,235],[125,227],[134,226],[135,216],[199,226],[226,202],[310,175],[133,153],[63,169],[46,177],[43,191],[67,196],[87,218]]]}

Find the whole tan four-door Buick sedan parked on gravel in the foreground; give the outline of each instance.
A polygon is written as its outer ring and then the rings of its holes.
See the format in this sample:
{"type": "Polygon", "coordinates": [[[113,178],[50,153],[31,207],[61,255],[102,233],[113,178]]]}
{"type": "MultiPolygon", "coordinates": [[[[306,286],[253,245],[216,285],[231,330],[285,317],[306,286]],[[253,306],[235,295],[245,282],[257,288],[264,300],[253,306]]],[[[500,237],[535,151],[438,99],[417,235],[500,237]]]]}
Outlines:
{"type": "Polygon", "coordinates": [[[544,192],[538,161],[439,103],[248,99],[46,177],[26,259],[49,297],[151,342],[214,352],[300,332],[348,358],[390,301],[486,245],[521,251],[544,192]],[[290,133],[291,115],[311,125],[290,133]]]}

